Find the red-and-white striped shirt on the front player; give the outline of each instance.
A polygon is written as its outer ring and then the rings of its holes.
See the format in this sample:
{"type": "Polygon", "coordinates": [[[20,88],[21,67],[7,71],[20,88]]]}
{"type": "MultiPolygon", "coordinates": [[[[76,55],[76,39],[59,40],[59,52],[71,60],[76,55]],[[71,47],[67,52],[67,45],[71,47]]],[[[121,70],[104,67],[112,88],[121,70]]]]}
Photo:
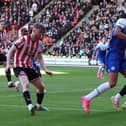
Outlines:
{"type": "Polygon", "coordinates": [[[42,53],[41,41],[32,42],[30,35],[27,35],[19,38],[14,44],[17,50],[14,56],[13,67],[34,69],[32,61],[37,59],[38,55],[42,53]]]}

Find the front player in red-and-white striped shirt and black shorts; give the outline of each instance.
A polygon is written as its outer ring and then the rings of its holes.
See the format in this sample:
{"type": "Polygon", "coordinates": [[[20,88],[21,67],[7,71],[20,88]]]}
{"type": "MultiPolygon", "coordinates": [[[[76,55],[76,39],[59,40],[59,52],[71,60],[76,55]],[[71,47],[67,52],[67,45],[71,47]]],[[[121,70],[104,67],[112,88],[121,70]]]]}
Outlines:
{"type": "Polygon", "coordinates": [[[10,59],[14,56],[14,73],[23,87],[23,96],[30,111],[31,115],[35,114],[35,110],[48,110],[48,108],[42,105],[44,98],[44,83],[40,75],[36,72],[32,61],[38,59],[38,62],[44,72],[50,76],[52,72],[48,71],[44,65],[42,56],[42,46],[39,40],[44,32],[44,27],[40,23],[36,23],[33,27],[31,35],[26,35],[19,38],[14,45],[10,48],[7,55],[6,71],[10,68],[10,59]],[[36,88],[37,105],[33,106],[29,91],[29,82],[31,82],[36,88]]]}

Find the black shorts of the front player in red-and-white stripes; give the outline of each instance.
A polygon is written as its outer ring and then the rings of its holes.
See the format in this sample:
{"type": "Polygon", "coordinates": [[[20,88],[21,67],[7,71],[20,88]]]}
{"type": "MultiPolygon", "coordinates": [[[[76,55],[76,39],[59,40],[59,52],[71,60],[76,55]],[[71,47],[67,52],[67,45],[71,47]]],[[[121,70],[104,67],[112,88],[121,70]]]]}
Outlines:
{"type": "Polygon", "coordinates": [[[29,81],[40,77],[40,75],[34,69],[31,68],[16,67],[14,68],[14,73],[16,77],[21,74],[26,74],[28,76],[29,81]]]}

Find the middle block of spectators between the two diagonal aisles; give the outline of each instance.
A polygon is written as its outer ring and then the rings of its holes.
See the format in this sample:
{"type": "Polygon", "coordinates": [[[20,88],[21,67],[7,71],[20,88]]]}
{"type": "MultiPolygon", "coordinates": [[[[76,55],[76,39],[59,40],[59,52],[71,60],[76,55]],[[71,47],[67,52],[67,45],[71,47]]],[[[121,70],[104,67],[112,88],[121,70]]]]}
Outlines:
{"type": "Polygon", "coordinates": [[[53,0],[34,22],[42,22],[47,32],[44,39],[48,49],[91,9],[92,5],[84,0],[53,0]],[[48,39],[47,39],[48,38],[48,39]]]}

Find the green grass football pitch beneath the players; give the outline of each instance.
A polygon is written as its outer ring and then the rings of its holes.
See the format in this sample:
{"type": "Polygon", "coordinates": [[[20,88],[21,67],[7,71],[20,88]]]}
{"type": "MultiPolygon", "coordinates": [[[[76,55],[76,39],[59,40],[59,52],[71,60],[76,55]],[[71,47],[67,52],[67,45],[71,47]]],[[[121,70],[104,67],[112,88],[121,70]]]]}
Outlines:
{"type": "MultiPolygon", "coordinates": [[[[49,111],[37,111],[30,116],[25,105],[22,90],[15,92],[7,88],[5,76],[0,76],[0,126],[125,126],[126,110],[116,112],[111,96],[116,94],[125,83],[119,75],[115,88],[95,98],[90,104],[90,114],[82,108],[81,96],[92,91],[99,84],[108,81],[107,75],[100,80],[96,77],[95,67],[48,67],[51,71],[65,72],[53,77],[43,75],[47,93],[43,104],[49,111]]],[[[16,81],[13,76],[12,79],[16,81]]],[[[21,89],[21,88],[20,88],[21,89]]],[[[36,104],[36,89],[30,84],[33,104],[36,104]]],[[[120,101],[121,104],[126,97],[120,101]]]]}

